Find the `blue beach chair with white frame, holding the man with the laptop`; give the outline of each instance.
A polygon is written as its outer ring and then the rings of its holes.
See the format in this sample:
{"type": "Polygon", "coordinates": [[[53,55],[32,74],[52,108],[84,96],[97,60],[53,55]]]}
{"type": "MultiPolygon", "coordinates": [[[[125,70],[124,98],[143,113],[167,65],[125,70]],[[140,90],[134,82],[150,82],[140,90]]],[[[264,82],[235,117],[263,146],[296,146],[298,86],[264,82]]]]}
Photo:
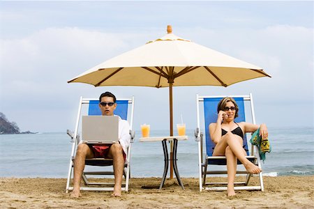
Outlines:
{"type": "MultiPolygon", "coordinates": [[[[75,124],[75,132],[73,133],[68,130],[68,135],[71,137],[72,139],[71,142],[73,143],[73,145],[71,149],[70,164],[68,168],[66,192],[68,192],[69,190],[73,190],[73,187],[70,186],[70,183],[71,179],[73,178],[73,167],[77,145],[80,142],[80,134],[78,134],[81,126],[80,120],[83,115],[100,116],[101,111],[98,107],[98,104],[99,104],[98,99],[87,99],[81,97],[77,113],[77,121],[75,124]]],[[[132,131],[133,112],[134,112],[134,97],[130,99],[117,99],[117,108],[114,110],[114,114],[120,116],[124,120],[127,120],[128,123],[130,124],[131,143],[128,146],[128,150],[126,153],[126,164],[124,165],[124,183],[122,183],[122,190],[126,192],[128,192],[128,184],[130,178],[130,150],[135,137],[135,133],[134,131],[132,131]]],[[[92,158],[85,160],[85,165],[91,167],[100,167],[101,171],[86,171],[87,168],[85,167],[84,172],[82,174],[82,179],[84,180],[86,186],[80,187],[80,189],[87,191],[113,191],[114,178],[110,178],[105,182],[91,182],[89,178],[87,178],[88,176],[103,176],[103,175],[113,176],[114,173],[112,164],[113,164],[112,159],[92,158]],[[108,171],[107,168],[110,170],[108,171]]]]}

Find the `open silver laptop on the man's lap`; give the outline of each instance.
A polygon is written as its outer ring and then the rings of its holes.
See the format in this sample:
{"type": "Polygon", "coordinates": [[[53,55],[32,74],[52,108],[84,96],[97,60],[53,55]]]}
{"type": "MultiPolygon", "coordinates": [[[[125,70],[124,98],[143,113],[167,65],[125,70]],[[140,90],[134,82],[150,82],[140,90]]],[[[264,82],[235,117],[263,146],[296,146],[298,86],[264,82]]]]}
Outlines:
{"type": "Polygon", "coordinates": [[[82,142],[85,144],[113,144],[119,141],[118,116],[83,116],[82,142]]]}

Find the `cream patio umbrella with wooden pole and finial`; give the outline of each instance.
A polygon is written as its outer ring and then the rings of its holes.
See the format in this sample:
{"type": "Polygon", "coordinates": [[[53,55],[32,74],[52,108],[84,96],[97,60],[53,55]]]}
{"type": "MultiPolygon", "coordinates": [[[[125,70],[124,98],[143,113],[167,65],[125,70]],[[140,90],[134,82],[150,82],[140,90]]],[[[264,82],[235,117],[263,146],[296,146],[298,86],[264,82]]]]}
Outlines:
{"type": "Polygon", "coordinates": [[[173,136],[173,86],[226,87],[257,77],[270,75],[256,65],[175,36],[171,26],[167,26],[167,34],[162,38],[100,63],[68,83],[169,87],[170,136],[173,136]]]}

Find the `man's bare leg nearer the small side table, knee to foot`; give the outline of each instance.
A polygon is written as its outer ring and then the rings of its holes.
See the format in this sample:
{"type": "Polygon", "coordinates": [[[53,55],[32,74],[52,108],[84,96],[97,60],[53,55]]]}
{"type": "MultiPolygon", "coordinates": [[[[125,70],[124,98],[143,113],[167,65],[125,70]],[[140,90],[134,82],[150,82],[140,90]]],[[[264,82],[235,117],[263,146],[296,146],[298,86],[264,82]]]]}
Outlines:
{"type": "Polygon", "coordinates": [[[108,157],[113,160],[114,167],[114,191],[112,196],[121,196],[122,176],[124,174],[124,150],[119,143],[112,144],[108,157]]]}

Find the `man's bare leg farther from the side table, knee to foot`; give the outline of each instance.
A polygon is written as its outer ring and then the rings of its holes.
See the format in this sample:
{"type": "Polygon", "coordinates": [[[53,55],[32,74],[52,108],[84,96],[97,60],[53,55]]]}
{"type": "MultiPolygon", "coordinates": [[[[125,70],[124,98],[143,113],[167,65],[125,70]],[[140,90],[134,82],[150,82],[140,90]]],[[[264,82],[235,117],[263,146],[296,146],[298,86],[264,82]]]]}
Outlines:
{"type": "Polygon", "coordinates": [[[85,159],[92,157],[94,157],[94,153],[87,144],[79,144],[79,146],[77,146],[74,160],[73,191],[71,192],[70,196],[75,198],[82,196],[80,193],[80,183],[85,167],[85,159]]]}

